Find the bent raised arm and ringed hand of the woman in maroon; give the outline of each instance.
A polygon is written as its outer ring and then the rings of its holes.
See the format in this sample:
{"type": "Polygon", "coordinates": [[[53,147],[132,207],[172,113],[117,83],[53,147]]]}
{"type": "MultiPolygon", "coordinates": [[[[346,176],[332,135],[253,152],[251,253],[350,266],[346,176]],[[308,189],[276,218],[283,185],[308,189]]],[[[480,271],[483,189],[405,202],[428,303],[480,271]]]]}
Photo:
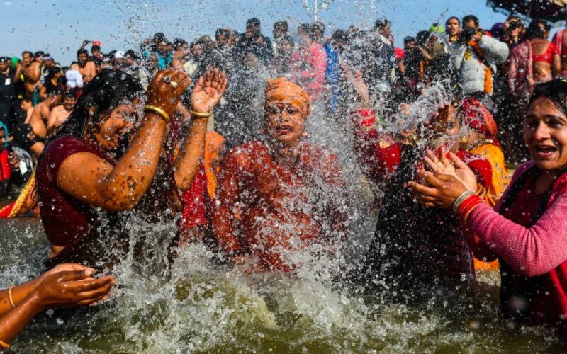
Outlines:
{"type": "MultiPolygon", "coordinates": [[[[173,69],[159,72],[148,89],[147,102],[171,115],[179,96],[190,83],[191,80],[182,72],[173,69]],[[178,82],[179,86],[174,88],[164,81],[165,76],[178,82]]],[[[123,106],[118,117],[109,118],[119,125],[116,130],[125,128],[128,123],[120,115],[130,115],[133,113],[131,110],[133,108],[123,106]]],[[[150,188],[155,176],[166,125],[160,115],[146,111],[141,127],[116,166],[89,152],[72,154],[61,164],[57,186],[64,193],[104,210],[132,209],[150,188]]]]}

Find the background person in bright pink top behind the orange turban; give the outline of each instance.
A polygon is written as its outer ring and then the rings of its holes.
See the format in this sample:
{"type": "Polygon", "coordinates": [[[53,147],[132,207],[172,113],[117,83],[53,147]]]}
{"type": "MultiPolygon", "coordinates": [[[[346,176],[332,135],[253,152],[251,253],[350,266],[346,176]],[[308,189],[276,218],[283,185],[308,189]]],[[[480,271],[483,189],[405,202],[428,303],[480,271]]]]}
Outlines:
{"type": "Polygon", "coordinates": [[[313,25],[305,24],[300,28],[301,44],[291,56],[293,62],[291,76],[309,93],[311,101],[315,103],[321,97],[325,84],[327,53],[322,45],[315,42],[313,25]]]}

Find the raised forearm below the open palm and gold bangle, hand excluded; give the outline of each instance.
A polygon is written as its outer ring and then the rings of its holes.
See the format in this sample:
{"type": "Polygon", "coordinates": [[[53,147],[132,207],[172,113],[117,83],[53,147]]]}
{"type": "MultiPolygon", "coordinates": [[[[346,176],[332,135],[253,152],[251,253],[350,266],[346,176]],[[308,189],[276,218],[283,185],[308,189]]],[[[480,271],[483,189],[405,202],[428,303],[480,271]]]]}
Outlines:
{"type": "Polygon", "coordinates": [[[177,159],[175,160],[175,183],[180,190],[188,190],[193,178],[201,166],[201,157],[205,151],[205,135],[207,119],[191,119],[189,134],[185,138],[177,159]]]}

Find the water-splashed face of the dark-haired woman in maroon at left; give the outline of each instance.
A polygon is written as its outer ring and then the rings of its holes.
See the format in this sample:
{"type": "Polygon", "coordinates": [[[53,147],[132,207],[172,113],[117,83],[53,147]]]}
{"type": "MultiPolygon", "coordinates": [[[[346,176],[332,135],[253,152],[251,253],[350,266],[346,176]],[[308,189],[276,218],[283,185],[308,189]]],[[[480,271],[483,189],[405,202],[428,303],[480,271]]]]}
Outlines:
{"type": "Polygon", "coordinates": [[[93,133],[94,140],[107,152],[118,152],[127,147],[135,134],[137,113],[133,103],[114,108],[108,118],[93,133]]]}

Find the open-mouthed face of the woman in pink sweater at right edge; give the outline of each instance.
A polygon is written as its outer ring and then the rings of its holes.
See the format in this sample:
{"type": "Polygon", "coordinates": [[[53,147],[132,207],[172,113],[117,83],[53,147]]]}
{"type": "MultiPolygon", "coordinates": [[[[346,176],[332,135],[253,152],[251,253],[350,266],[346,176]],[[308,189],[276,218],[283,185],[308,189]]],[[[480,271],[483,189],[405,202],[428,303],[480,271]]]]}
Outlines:
{"type": "Polygon", "coordinates": [[[527,110],[524,134],[536,166],[556,171],[567,166],[567,117],[548,98],[538,98],[527,110]]]}

